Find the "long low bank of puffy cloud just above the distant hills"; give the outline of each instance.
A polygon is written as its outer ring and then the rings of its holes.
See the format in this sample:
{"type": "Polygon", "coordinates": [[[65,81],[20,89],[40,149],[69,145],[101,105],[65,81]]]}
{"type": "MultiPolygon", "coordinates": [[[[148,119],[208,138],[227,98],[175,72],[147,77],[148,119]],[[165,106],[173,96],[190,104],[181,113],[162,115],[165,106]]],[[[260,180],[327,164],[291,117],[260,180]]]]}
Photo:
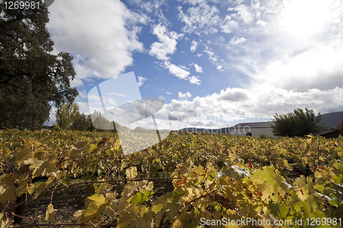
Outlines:
{"type": "MultiPolygon", "coordinates": [[[[180,96],[187,97],[182,93],[180,96]]],[[[174,121],[171,121],[174,129],[180,129],[177,128],[181,125],[177,123],[179,121],[188,127],[218,128],[231,127],[246,121],[246,118],[249,119],[248,122],[270,120],[276,113],[286,114],[293,112],[297,107],[302,109],[307,107],[322,114],[337,109],[342,110],[342,97],[342,87],[296,92],[263,84],[249,89],[226,88],[219,94],[196,97],[193,101],[173,99],[167,105],[167,109],[170,116],[174,117],[174,121]],[[210,125],[211,121],[215,123],[210,125]]]]}

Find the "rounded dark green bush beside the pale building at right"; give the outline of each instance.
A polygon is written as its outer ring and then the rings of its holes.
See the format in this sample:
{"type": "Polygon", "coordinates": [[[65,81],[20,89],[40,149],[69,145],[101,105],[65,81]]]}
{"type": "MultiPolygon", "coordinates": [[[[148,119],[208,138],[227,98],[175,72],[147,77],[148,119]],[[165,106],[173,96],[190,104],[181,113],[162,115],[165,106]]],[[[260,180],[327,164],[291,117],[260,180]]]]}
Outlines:
{"type": "Polygon", "coordinates": [[[275,136],[303,137],[308,134],[319,134],[320,131],[327,129],[324,124],[318,125],[322,120],[322,115],[319,113],[315,116],[314,110],[304,110],[298,108],[294,112],[288,114],[274,115],[273,123],[271,124],[272,132],[275,136]]]}

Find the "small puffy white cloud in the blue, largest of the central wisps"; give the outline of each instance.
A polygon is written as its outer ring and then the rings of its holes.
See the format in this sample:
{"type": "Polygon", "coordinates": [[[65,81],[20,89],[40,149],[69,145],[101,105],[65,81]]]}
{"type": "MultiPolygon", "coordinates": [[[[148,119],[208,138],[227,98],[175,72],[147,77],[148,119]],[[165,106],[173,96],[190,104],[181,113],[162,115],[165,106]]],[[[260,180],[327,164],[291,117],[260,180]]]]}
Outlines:
{"type": "Polygon", "coordinates": [[[167,31],[167,28],[161,24],[155,25],[154,35],[157,36],[159,42],[154,42],[150,47],[149,54],[155,55],[158,60],[169,60],[167,55],[176,51],[176,40],[182,37],[183,34],[177,34],[175,31],[167,31]]]}

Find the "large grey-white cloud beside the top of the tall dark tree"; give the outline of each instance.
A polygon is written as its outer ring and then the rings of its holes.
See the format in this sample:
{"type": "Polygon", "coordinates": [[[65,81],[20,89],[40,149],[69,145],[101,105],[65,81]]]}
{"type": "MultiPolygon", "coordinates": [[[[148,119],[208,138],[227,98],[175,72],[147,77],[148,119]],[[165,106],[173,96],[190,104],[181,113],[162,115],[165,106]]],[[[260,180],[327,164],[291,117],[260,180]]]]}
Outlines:
{"type": "Polygon", "coordinates": [[[131,12],[121,1],[61,0],[49,12],[47,28],[55,42],[54,52],[74,56],[73,86],[82,86],[81,80],[87,77],[119,75],[132,64],[132,53],[143,51],[138,25],[147,17],[131,12]]]}

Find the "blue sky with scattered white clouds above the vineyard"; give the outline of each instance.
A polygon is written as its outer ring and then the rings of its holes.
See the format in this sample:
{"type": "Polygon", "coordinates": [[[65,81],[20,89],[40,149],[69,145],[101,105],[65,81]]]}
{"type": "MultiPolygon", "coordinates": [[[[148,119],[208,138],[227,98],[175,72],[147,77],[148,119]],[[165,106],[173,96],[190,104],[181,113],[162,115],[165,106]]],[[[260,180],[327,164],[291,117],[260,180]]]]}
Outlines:
{"type": "Polygon", "coordinates": [[[141,97],[165,99],[171,129],[343,110],[340,0],[59,0],[49,19],[86,114],[94,86],[132,71],[141,97]]]}

